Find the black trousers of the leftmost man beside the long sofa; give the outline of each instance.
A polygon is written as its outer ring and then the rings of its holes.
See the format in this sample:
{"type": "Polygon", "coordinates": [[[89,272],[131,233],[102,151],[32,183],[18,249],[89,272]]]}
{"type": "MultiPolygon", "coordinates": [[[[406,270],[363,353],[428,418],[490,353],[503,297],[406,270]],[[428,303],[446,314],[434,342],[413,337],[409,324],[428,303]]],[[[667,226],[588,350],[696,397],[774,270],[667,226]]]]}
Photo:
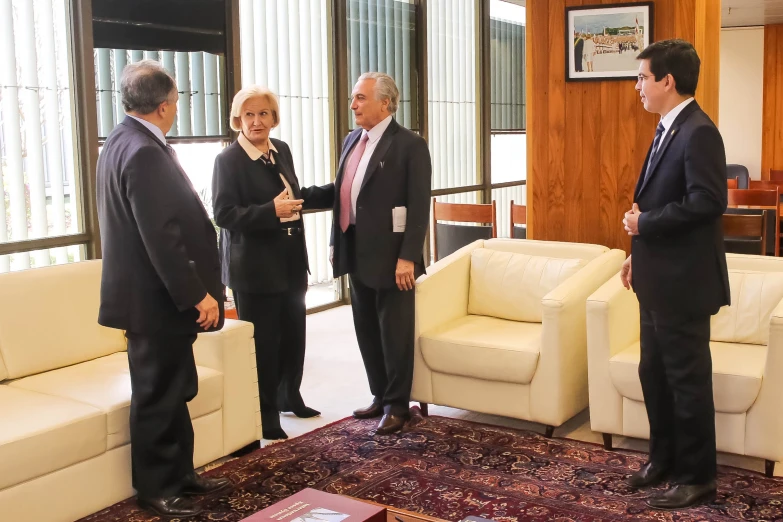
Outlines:
{"type": "Polygon", "coordinates": [[[198,393],[195,334],[125,334],[131,377],[131,462],[139,497],[177,495],[193,473],[188,402],[198,393]]]}

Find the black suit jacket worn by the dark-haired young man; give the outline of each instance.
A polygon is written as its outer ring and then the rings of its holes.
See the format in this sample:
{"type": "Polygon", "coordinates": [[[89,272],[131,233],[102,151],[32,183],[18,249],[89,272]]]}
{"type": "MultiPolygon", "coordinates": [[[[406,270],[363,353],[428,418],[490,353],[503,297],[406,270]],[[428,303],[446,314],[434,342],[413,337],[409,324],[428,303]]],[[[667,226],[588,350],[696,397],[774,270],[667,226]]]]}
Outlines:
{"type": "Polygon", "coordinates": [[[631,241],[633,289],[651,311],[712,315],[730,303],[723,139],[692,101],[662,140],[645,182],[648,152],[634,194],[642,215],[631,241]]]}

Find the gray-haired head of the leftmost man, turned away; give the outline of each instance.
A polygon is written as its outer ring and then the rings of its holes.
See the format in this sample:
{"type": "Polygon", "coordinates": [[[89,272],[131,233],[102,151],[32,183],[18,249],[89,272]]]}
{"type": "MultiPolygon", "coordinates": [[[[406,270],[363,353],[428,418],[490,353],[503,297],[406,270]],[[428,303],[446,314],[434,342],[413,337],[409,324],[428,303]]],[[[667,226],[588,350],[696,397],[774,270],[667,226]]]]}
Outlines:
{"type": "Polygon", "coordinates": [[[177,82],[155,60],[141,60],[127,65],[122,71],[120,91],[125,112],[149,114],[172,98],[177,82]]]}

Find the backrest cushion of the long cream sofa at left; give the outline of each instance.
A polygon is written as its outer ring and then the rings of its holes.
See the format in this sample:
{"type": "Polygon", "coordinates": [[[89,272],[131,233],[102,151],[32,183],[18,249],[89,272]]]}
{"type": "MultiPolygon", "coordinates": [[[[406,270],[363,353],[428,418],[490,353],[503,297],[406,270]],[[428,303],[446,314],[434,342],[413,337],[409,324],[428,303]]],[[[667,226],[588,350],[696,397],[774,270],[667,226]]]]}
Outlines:
{"type": "Polygon", "coordinates": [[[100,261],[0,274],[0,355],[7,378],[125,350],[122,331],[97,322],[100,287],[100,261]]]}

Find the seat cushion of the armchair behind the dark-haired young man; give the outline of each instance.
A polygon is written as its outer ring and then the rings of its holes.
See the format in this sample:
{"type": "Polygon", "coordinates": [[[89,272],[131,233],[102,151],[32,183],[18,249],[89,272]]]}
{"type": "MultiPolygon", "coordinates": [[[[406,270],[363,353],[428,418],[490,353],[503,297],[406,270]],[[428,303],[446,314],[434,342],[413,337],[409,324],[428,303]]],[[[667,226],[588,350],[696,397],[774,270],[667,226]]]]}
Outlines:
{"type": "MultiPolygon", "coordinates": [[[[639,343],[609,360],[612,384],[623,397],[644,401],[639,382],[639,343]]],[[[767,347],[757,344],[711,342],[712,393],[715,411],[744,413],[753,406],[761,389],[767,347]]]]}

